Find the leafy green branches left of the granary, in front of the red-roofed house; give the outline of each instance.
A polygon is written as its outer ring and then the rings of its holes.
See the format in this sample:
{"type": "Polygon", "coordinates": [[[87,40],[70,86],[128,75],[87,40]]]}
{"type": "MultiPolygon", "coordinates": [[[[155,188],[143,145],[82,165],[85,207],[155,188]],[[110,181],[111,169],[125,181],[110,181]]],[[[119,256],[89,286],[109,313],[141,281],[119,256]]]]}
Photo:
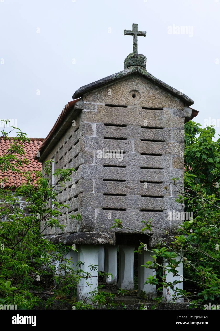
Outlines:
{"type": "MultiPolygon", "coordinates": [[[[25,171],[29,161],[24,159],[23,144],[29,139],[17,130],[9,149],[0,157],[0,174],[4,174],[0,185],[0,305],[46,309],[56,301],[71,307],[76,302],[77,284],[86,278],[89,287],[91,273],[82,270],[83,261],[78,262],[76,270],[71,269],[68,252],[76,249],[54,245],[42,238],[42,232],[48,227],[64,228],[59,216],[69,206],[60,204],[57,194],[75,170],[56,169],[52,174],[52,163],[48,161],[44,175],[40,171],[25,171]],[[7,173],[25,179],[26,183],[7,187],[7,173]],[[20,204],[22,197],[28,203],[25,210],[20,204]]],[[[4,139],[9,139],[4,129],[1,132],[4,139]]],[[[69,214],[69,218],[80,221],[81,215],[69,214]]],[[[96,299],[102,305],[103,300],[96,299]]]]}

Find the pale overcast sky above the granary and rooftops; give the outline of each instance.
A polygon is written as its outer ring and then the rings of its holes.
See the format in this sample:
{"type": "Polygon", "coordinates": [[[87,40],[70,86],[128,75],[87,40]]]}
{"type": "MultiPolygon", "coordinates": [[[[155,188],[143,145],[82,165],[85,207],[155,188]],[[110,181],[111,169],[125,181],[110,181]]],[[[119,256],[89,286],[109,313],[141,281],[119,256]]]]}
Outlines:
{"type": "Polygon", "coordinates": [[[220,134],[220,0],[0,0],[0,118],[45,138],[80,86],[123,70],[132,23],[147,71],[220,134]]]}

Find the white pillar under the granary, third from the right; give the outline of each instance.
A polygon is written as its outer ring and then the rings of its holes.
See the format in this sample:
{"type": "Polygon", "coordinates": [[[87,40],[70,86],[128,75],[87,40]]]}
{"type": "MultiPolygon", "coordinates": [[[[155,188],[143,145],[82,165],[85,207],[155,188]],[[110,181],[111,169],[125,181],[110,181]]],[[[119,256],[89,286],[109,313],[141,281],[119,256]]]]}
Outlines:
{"type": "Polygon", "coordinates": [[[118,288],[134,289],[134,249],[133,246],[119,246],[118,288]]]}

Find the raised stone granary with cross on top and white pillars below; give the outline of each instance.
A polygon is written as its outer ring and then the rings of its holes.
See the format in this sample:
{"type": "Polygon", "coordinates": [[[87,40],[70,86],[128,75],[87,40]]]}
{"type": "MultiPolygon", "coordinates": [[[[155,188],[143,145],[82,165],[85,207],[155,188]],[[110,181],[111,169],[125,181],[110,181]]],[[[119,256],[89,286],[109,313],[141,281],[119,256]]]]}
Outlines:
{"type": "MultiPolygon", "coordinates": [[[[133,24],[133,30],[124,34],[133,35],[133,53],[125,59],[124,70],[73,94],[74,100],[66,105],[41,145],[38,161],[44,165],[54,159],[55,169],[76,169],[72,183],[58,195],[60,202],[70,206],[60,218],[65,233],[49,228],[45,238],[76,245],[79,256],[70,252],[73,264],[78,259],[84,261],[85,271],[90,264],[99,265],[99,270],[113,275],[107,283],[133,289],[135,247],[140,241],[153,247],[163,230],[174,232],[181,223],[168,219],[169,211],[183,211],[175,202],[177,194],[172,192],[171,182],[179,177],[183,183],[184,122],[198,112],[189,108],[193,104],[189,97],[145,69],[146,57],[137,52],[137,36],[146,32],[133,24]],[[80,213],[82,220],[67,220],[74,213],[80,213]],[[111,229],[114,219],[120,219],[123,227],[111,229]],[[155,226],[150,236],[139,234],[136,230],[143,227],[141,220],[149,219],[155,226]]],[[[156,290],[144,282],[154,271],[140,266],[151,254],[144,251],[139,257],[138,291],[148,295],[156,290]]],[[[93,289],[97,271],[92,274],[93,289]]],[[[89,291],[82,281],[78,298],[87,299],[89,291]]],[[[168,300],[170,295],[164,292],[168,300]]]]}

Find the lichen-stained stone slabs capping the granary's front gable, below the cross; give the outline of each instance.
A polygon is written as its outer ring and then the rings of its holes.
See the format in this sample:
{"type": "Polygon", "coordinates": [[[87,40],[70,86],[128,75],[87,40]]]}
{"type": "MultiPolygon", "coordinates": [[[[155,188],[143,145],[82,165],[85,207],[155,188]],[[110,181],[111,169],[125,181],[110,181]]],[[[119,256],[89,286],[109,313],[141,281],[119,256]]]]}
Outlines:
{"type": "Polygon", "coordinates": [[[122,70],[120,72],[114,73],[113,75],[110,75],[108,77],[102,78],[100,80],[97,80],[93,83],[84,85],[80,87],[74,94],[73,94],[73,99],[81,97],[84,93],[87,93],[89,91],[92,91],[96,88],[99,88],[103,85],[110,84],[118,79],[123,79],[131,74],[139,74],[155,85],[161,87],[162,89],[166,90],[170,94],[174,95],[178,99],[182,100],[186,106],[191,106],[194,101],[187,97],[187,95],[181,93],[180,91],[176,90],[174,87],[171,87],[170,85],[162,82],[158,78],[154,77],[152,74],[150,74],[146,69],[140,67],[140,66],[133,66],[126,68],[125,70],[122,70]]]}

